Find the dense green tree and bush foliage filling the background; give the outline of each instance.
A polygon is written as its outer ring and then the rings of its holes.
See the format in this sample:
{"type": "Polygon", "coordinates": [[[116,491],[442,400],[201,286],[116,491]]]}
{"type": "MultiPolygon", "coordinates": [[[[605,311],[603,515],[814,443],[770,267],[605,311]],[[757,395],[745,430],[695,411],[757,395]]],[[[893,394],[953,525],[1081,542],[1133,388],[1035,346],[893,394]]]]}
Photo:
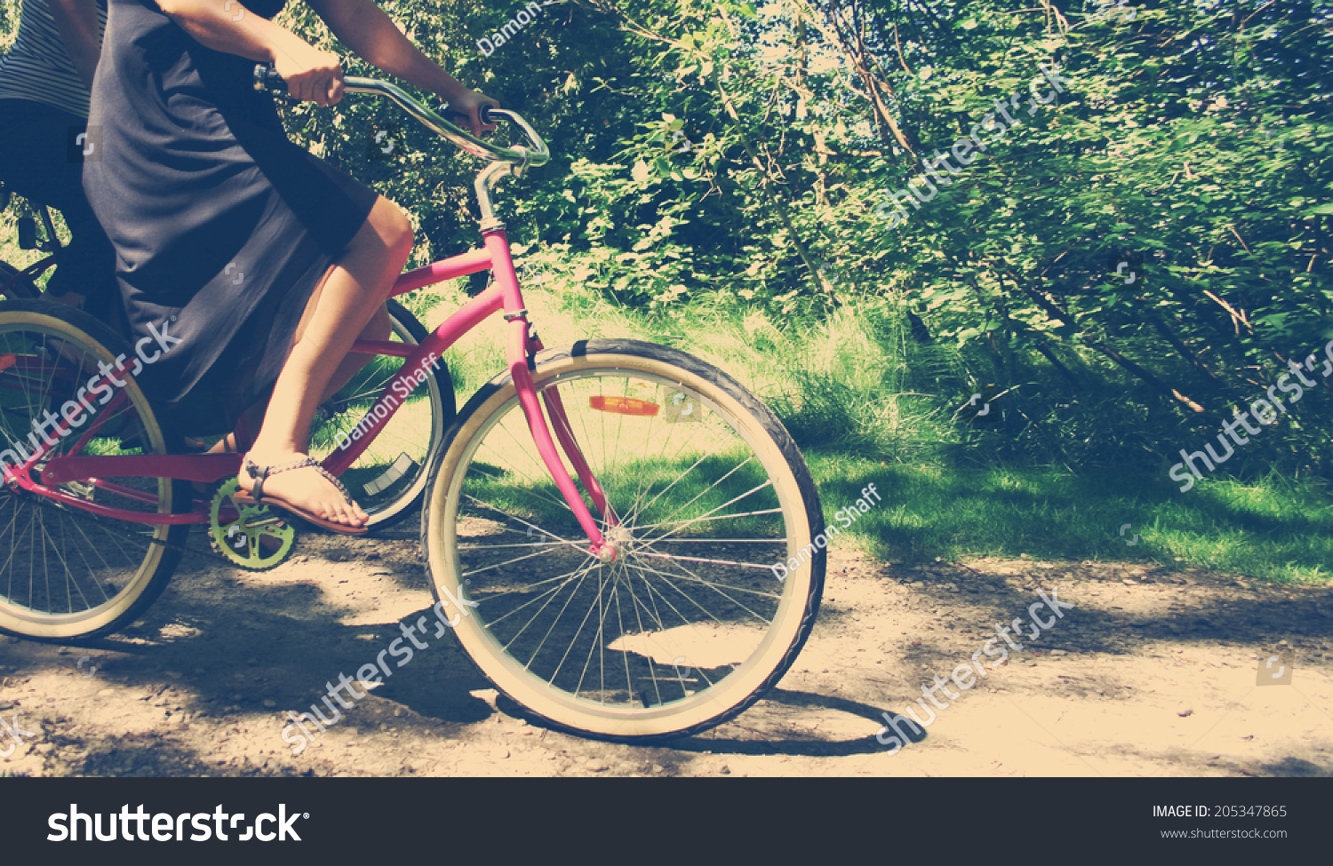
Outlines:
{"type": "MultiPolygon", "coordinates": [[[[503,196],[528,260],[797,338],[886,310],[904,389],[1006,394],[997,448],[1168,460],[1333,340],[1328,3],[567,0],[491,53],[517,0],[381,5],[551,141],[503,196]],[[957,173],[922,165],[969,137],[957,173]]],[[[419,260],[476,242],[471,157],[372,99],[284,111],[413,215],[419,260]]],[[[1330,382],[1246,453],[1329,473],[1330,382]]]]}

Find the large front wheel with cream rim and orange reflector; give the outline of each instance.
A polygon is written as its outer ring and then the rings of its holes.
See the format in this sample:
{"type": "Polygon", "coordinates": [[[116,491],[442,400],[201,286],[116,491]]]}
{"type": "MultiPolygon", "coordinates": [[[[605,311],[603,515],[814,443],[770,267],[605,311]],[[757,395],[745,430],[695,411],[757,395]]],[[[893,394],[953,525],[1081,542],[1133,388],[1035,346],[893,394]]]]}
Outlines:
{"type": "Polygon", "coordinates": [[[737,715],[790,667],[824,584],[822,513],[790,436],[734,380],[653,344],[549,349],[533,380],[548,413],[559,394],[619,556],[588,553],[505,374],[464,408],[427,488],[437,616],[557,727],[637,741],[737,715]]]}

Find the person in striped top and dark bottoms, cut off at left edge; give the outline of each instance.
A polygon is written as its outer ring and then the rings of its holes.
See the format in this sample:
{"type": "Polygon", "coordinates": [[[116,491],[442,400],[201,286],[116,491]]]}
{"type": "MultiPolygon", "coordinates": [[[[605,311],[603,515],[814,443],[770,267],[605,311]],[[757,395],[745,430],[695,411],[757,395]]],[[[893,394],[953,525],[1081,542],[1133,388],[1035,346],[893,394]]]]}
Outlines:
{"type": "Polygon", "coordinates": [[[0,183],[64,215],[71,241],[47,294],[75,305],[87,296],[85,309],[104,320],[120,298],[116,250],[80,176],[85,155],[101,156],[87,119],[105,21],[105,0],[24,0],[19,36],[0,60],[0,183]]]}

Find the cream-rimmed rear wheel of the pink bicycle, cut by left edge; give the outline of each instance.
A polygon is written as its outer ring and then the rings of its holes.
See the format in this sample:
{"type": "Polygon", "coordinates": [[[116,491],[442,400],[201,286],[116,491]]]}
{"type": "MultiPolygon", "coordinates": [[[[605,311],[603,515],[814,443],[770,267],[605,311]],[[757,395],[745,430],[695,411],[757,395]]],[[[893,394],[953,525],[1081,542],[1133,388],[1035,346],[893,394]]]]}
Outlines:
{"type": "MultiPolygon", "coordinates": [[[[169,437],[135,381],[133,350],[91,316],[49,301],[0,304],[0,464],[11,473],[37,449],[32,478],[55,456],[165,454],[169,437]],[[128,360],[124,385],[99,362],[128,360]],[[91,385],[96,385],[92,388],[91,385]],[[84,409],[79,409],[79,401],[84,409]],[[51,424],[61,416],[67,434],[51,424]],[[77,425],[73,422],[77,421],[77,425]]],[[[188,525],[93,514],[0,477],[0,632],[69,642],[124,628],[152,604],[180,561],[188,525]]],[[[71,500],[137,514],[189,510],[188,482],[81,478],[71,500]]]]}

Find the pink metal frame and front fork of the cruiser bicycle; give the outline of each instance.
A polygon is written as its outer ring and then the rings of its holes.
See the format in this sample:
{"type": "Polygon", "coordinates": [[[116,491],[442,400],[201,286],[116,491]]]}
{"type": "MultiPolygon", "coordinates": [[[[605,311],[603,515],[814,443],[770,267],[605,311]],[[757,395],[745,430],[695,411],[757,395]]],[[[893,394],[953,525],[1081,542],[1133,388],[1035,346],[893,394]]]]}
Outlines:
{"type": "MultiPolygon", "coordinates": [[[[547,470],[551,473],[552,480],[565,497],[565,501],[573,510],[575,517],[579,520],[579,525],[588,534],[588,540],[592,544],[591,552],[593,556],[603,556],[603,550],[607,548],[601,532],[597,529],[596,521],[584,502],[583,496],[580,496],[573,481],[569,478],[569,473],[561,464],[560,454],[556,450],[556,440],[559,440],[561,450],[569,458],[580,484],[584,490],[588,492],[588,496],[592,498],[597,510],[601,512],[612,525],[616,524],[616,517],[607,505],[607,497],[604,496],[601,486],[597,484],[597,480],[593,477],[583,452],[573,440],[573,434],[559,394],[549,390],[543,397],[547,412],[551,414],[556,430],[555,440],[552,438],[551,426],[548,426],[547,417],[537,401],[536,389],[532,381],[532,372],[529,370],[529,361],[544,346],[532,332],[532,326],[528,322],[528,310],[523,305],[523,293],[519,288],[517,273],[513,268],[513,260],[509,256],[508,236],[505,234],[504,228],[500,226],[483,232],[483,237],[485,240],[485,246],[473,249],[460,256],[436,261],[424,268],[408,270],[393,284],[392,294],[397,296],[443,282],[444,280],[477,273],[480,270],[495,272],[495,281],[485,292],[456,310],[419,345],[409,346],[401,342],[377,340],[357,340],[352,345],[353,353],[401,357],[403,365],[399,368],[393,378],[391,378],[385,385],[384,390],[380,392],[380,396],[376,398],[371,409],[356,425],[355,429],[360,430],[360,436],[352,440],[344,440],[343,444],[333,450],[333,453],[324,458],[323,465],[335,476],[345,472],[353,462],[356,462],[356,458],[361,456],[369,442],[376,437],[380,429],[383,429],[388,418],[392,417],[392,414],[401,405],[401,401],[395,396],[395,393],[399,393],[396,392],[395,385],[401,382],[403,388],[411,390],[416,385],[415,378],[417,376],[417,370],[424,370],[427,366],[431,366],[432,358],[443,357],[444,352],[457,342],[464,334],[472,330],[472,328],[479,325],[488,316],[503,310],[508,324],[505,328],[505,358],[509,365],[509,374],[513,377],[517,388],[520,406],[523,408],[523,413],[528,421],[533,442],[537,446],[537,452],[541,456],[547,470]]],[[[56,433],[61,437],[65,434],[63,429],[57,429],[56,433]]],[[[20,472],[15,478],[19,486],[24,490],[47,496],[65,505],[83,508],[84,510],[89,510],[104,517],[155,525],[200,524],[207,522],[208,516],[197,508],[189,514],[147,514],[143,512],[115,509],[69,496],[61,490],[56,490],[55,486],[68,481],[88,478],[95,480],[95,484],[100,486],[109,486],[111,482],[103,481],[103,478],[128,476],[213,482],[240,472],[241,462],[240,454],[53,457],[43,468],[41,482],[39,484],[32,481],[28,472],[39,460],[40,456],[33,454],[33,458],[20,468],[20,472]]],[[[115,486],[116,492],[121,496],[135,494],[133,490],[128,490],[120,485],[115,486]]],[[[613,557],[615,553],[611,553],[609,556],[613,557]]]]}

